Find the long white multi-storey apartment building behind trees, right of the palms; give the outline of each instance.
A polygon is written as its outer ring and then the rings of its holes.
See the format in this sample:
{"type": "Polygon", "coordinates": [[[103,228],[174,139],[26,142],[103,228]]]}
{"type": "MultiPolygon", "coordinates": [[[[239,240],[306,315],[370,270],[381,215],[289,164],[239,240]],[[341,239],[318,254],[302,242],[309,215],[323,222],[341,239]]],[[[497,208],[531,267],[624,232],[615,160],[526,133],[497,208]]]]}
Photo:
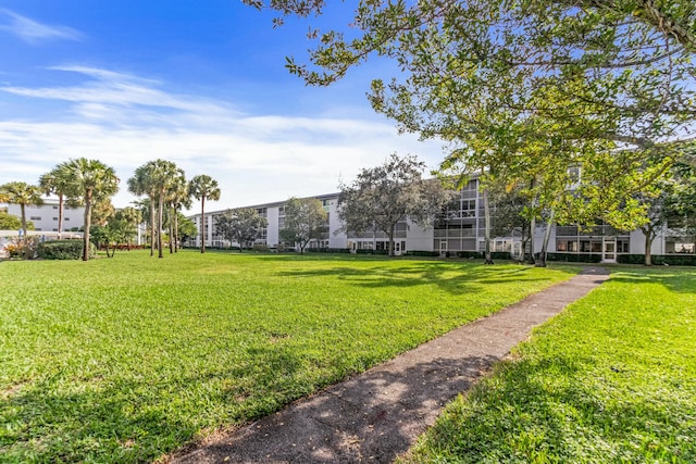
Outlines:
{"type": "MultiPolygon", "coordinates": [[[[350,250],[377,250],[388,249],[387,237],[382,231],[366,233],[359,236],[347,235],[341,231],[341,223],[338,218],[338,193],[320,195],[314,198],[322,201],[328,213],[328,233],[320,240],[310,242],[308,248],[350,250]]],[[[281,242],[279,230],[284,224],[284,202],[257,204],[245,208],[253,208],[265,217],[269,225],[260,230],[257,243],[275,247],[281,242]]],[[[225,210],[206,213],[206,244],[208,247],[225,248],[237,246],[231,243],[216,233],[216,217],[224,214],[225,210]]],[[[471,179],[460,191],[448,210],[446,220],[438,220],[431,227],[420,227],[409,221],[397,225],[395,237],[395,252],[402,254],[409,251],[438,252],[440,255],[457,255],[459,252],[481,252],[485,249],[484,209],[478,190],[478,179],[471,179]]],[[[200,233],[200,214],[189,216],[200,233]]],[[[190,240],[187,244],[200,247],[200,236],[190,240]]],[[[544,240],[543,226],[534,234],[534,250],[542,249],[544,240]]],[[[511,230],[508,236],[496,237],[492,242],[492,251],[509,252],[511,256],[521,254],[521,234],[511,230]]],[[[583,261],[594,259],[601,262],[616,262],[619,254],[644,254],[645,236],[641,230],[622,231],[611,226],[601,225],[591,229],[577,226],[555,226],[550,234],[548,251],[550,253],[564,253],[569,261],[583,261]]],[[[680,237],[664,229],[652,242],[652,254],[694,253],[693,240],[680,237]]],[[[527,247],[529,252],[529,247],[527,247]]]]}

